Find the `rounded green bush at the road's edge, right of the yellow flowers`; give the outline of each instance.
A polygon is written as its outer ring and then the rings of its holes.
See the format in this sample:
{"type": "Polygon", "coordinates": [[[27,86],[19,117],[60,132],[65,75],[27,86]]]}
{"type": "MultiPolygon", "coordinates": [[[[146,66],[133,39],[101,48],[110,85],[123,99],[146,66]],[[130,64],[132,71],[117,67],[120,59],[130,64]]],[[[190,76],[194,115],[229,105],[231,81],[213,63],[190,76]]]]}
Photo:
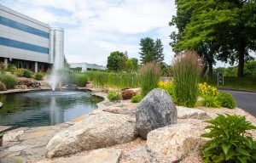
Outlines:
{"type": "Polygon", "coordinates": [[[236,101],[230,93],[218,93],[217,100],[220,106],[233,109],[236,107],[236,101]]]}

